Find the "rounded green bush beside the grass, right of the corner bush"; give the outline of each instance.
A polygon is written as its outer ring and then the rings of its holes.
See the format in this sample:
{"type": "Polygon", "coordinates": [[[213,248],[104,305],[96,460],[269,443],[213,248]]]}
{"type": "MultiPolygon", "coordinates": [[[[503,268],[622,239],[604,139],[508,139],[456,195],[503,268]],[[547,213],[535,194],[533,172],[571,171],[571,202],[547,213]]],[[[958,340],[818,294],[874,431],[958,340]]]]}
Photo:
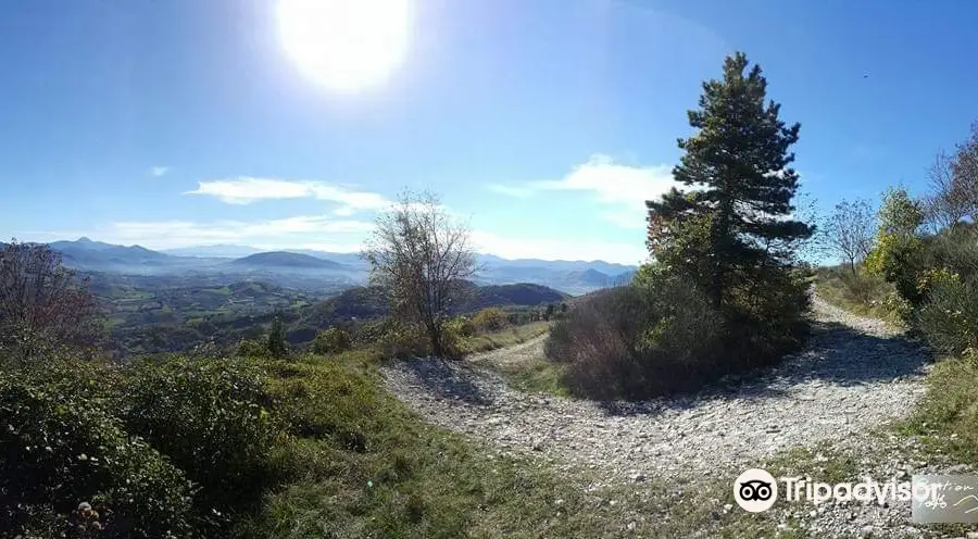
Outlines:
{"type": "Polygon", "coordinates": [[[205,514],[247,506],[271,480],[264,381],[241,360],[142,363],[126,380],[122,417],[201,486],[205,514]]]}

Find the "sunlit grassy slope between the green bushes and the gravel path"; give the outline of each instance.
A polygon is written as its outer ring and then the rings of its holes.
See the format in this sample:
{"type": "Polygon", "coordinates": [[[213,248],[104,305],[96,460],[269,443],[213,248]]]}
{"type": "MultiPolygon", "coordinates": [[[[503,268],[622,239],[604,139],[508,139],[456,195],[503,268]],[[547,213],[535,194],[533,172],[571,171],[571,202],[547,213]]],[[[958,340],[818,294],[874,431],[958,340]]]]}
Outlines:
{"type": "Polygon", "coordinates": [[[589,489],[588,471],[500,453],[431,426],[386,392],[363,352],[271,363],[279,413],[297,425],[277,450],[287,484],[243,537],[753,537],[770,518],[726,512],[728,481],[589,489]]]}

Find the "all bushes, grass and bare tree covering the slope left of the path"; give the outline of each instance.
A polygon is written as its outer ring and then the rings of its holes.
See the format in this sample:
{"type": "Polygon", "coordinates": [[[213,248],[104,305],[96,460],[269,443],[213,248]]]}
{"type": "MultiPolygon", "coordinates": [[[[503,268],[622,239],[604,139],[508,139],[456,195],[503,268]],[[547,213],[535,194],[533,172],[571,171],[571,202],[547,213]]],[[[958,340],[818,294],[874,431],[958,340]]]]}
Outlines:
{"type": "MultiPolygon", "coordinates": [[[[410,318],[330,326],[303,350],[274,317],[229,353],[123,365],[89,346],[99,313],[57,253],[11,242],[0,277],[4,536],[498,536],[561,529],[536,512],[579,499],[566,478],[482,454],[381,389],[380,361],[432,352],[410,318]]],[[[561,312],[447,316],[442,343],[462,355],[524,342],[561,312]]]]}

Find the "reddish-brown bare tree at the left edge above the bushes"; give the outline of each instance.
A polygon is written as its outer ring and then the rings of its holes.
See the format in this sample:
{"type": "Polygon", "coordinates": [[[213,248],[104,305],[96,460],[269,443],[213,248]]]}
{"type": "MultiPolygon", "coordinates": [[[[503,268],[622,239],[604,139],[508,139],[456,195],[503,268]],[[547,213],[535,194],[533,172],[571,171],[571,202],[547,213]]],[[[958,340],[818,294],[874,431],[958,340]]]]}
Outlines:
{"type": "Polygon", "coordinates": [[[87,351],[96,342],[97,306],[87,281],[48,246],[0,250],[0,361],[27,363],[60,347],[87,351]]]}

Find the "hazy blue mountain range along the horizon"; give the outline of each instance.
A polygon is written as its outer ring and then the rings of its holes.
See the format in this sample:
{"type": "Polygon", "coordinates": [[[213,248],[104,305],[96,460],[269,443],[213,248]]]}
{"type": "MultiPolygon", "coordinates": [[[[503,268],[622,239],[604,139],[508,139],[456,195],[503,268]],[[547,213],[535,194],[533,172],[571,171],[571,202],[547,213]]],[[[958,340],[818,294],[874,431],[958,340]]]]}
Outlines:
{"type": "MultiPolygon", "coordinates": [[[[84,272],[141,276],[200,276],[213,280],[266,280],[299,289],[355,286],[366,283],[368,265],[358,253],[313,250],[262,251],[250,246],[216,245],[152,251],[89,238],[54,241],[65,265],[84,272]]],[[[631,280],[636,266],[600,260],[507,260],[479,254],[480,285],[532,283],[566,293],[587,293],[631,280]]]]}

